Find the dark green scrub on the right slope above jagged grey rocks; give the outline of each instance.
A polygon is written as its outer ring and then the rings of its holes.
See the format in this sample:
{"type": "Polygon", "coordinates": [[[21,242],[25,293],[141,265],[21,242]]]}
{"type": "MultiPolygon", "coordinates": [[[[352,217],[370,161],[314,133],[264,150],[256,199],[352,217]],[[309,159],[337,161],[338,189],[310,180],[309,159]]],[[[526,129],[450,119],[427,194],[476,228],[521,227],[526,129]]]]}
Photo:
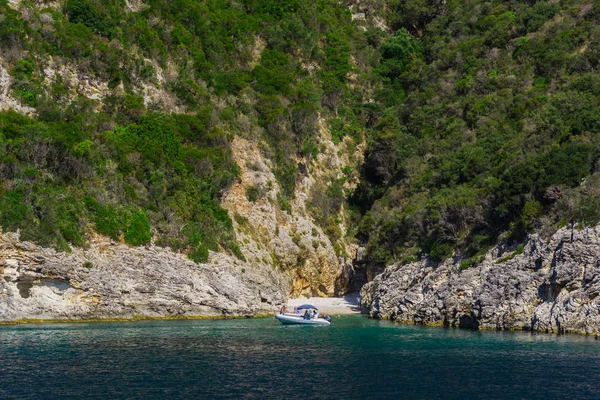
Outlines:
{"type": "Polygon", "coordinates": [[[374,262],[600,220],[600,2],[394,0],[353,203],[374,262]]]}

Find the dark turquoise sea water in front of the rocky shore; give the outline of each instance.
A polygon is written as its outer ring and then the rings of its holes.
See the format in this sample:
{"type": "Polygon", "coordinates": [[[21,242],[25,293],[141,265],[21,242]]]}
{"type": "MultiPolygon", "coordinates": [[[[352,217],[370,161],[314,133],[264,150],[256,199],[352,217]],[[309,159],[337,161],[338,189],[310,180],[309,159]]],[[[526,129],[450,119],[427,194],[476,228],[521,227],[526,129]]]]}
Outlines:
{"type": "Polygon", "coordinates": [[[0,399],[598,399],[600,341],[272,318],[0,327],[0,399]]]}

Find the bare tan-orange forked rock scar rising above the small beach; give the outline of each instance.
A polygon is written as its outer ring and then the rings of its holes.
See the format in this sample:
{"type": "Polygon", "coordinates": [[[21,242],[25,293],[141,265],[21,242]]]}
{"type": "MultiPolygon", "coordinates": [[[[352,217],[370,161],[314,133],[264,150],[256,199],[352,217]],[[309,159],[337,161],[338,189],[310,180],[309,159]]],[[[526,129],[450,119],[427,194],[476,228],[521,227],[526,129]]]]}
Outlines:
{"type": "MultiPolygon", "coordinates": [[[[355,246],[341,240],[337,245],[345,247],[348,257],[338,257],[334,243],[316,224],[307,207],[313,187],[326,182],[328,174],[339,174],[347,165],[337,155],[338,148],[327,140],[327,134],[319,135],[326,150],[304,166],[291,212],[280,207],[280,187],[272,172],[273,165],[263,156],[259,145],[239,136],[232,142],[241,179],[224,194],[222,205],[230,213],[248,263],[256,268],[269,266],[288,276],[291,297],[330,297],[344,294],[350,288],[355,246]],[[249,190],[257,193],[256,198],[249,200],[249,190]]],[[[343,224],[340,228],[345,231],[343,224]]]]}

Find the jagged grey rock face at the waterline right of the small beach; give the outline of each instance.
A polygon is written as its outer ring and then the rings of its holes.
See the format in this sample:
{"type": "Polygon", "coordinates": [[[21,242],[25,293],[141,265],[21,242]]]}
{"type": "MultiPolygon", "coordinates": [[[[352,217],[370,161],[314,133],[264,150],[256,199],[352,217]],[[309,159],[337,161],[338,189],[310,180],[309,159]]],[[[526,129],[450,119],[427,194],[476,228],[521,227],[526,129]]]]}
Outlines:
{"type": "Polygon", "coordinates": [[[392,265],[362,289],[375,318],[466,328],[600,332],[600,226],[531,235],[476,267],[392,265]]]}

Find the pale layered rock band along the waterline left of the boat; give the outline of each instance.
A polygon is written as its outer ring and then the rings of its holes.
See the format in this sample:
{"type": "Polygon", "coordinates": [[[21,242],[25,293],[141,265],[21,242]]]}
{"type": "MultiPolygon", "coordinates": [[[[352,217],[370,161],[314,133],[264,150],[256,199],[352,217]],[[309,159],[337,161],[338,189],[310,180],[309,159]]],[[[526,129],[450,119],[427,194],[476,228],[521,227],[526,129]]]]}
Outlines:
{"type": "Polygon", "coordinates": [[[249,316],[287,300],[285,278],[220,253],[196,264],[168,249],[98,237],[56,252],[0,233],[0,321],[249,316]]]}

